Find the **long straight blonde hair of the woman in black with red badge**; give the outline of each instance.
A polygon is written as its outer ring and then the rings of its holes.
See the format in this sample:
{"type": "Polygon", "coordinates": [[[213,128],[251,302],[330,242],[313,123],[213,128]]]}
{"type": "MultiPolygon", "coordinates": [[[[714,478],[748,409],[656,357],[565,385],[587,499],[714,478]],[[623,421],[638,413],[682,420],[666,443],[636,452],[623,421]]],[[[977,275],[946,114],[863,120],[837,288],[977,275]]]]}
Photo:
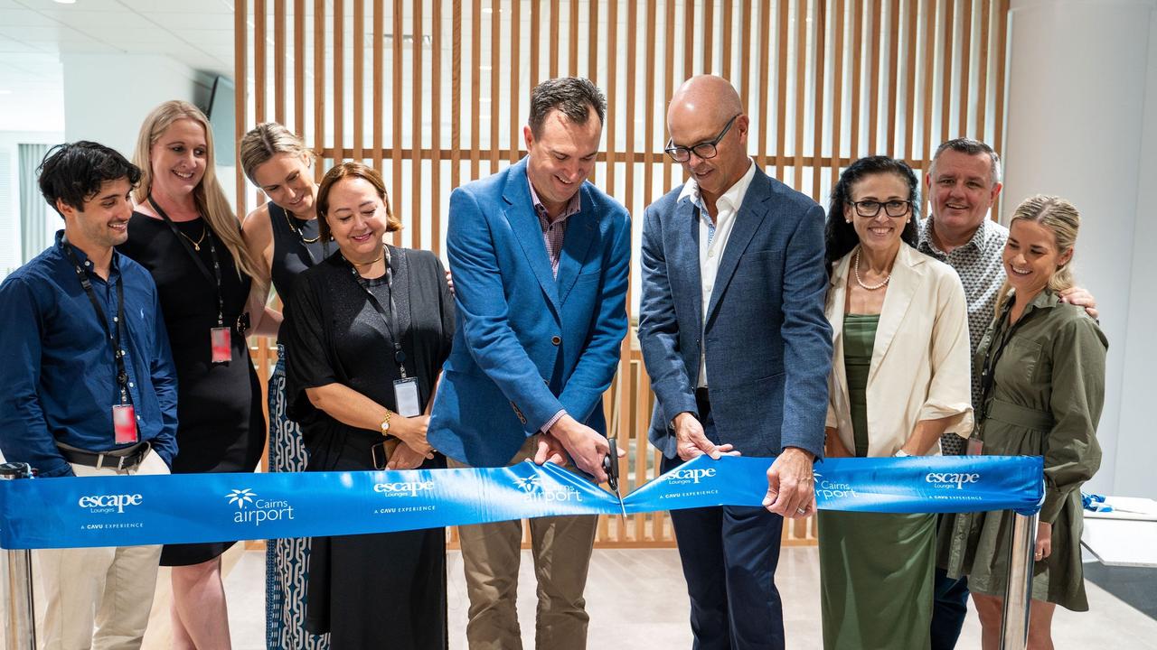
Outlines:
{"type": "Polygon", "coordinates": [[[179,119],[191,119],[205,130],[205,176],[193,189],[197,212],[205,217],[209,228],[213,229],[213,234],[221,239],[229,254],[233,256],[237,273],[245,273],[261,287],[259,267],[249,254],[245,242],[241,238],[241,222],[218,182],[213,162],[213,131],[209,128],[208,118],[200,109],[189,102],[172,99],[153,109],[153,112],[145,118],[145,124],[141,125],[140,134],[137,136],[137,150],[133,153],[133,164],[141,169],[141,183],[133,191],[133,199],[137,205],[148,200],[148,195],[153,191],[153,145],[172,126],[172,123],[179,119]]]}

